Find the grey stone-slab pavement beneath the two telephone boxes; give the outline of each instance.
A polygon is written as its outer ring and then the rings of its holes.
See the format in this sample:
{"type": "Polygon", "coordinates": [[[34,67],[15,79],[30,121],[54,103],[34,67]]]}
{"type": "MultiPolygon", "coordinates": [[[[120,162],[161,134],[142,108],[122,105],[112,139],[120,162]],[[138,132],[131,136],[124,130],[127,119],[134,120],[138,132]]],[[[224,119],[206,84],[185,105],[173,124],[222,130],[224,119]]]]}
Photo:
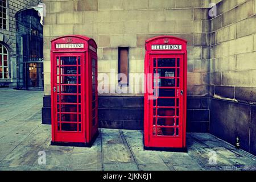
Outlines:
{"type": "Polygon", "coordinates": [[[100,129],[91,148],[51,146],[42,100],[43,92],[0,89],[0,170],[256,170],[255,156],[210,134],[187,134],[187,153],[144,151],[134,130],[100,129]]]}

